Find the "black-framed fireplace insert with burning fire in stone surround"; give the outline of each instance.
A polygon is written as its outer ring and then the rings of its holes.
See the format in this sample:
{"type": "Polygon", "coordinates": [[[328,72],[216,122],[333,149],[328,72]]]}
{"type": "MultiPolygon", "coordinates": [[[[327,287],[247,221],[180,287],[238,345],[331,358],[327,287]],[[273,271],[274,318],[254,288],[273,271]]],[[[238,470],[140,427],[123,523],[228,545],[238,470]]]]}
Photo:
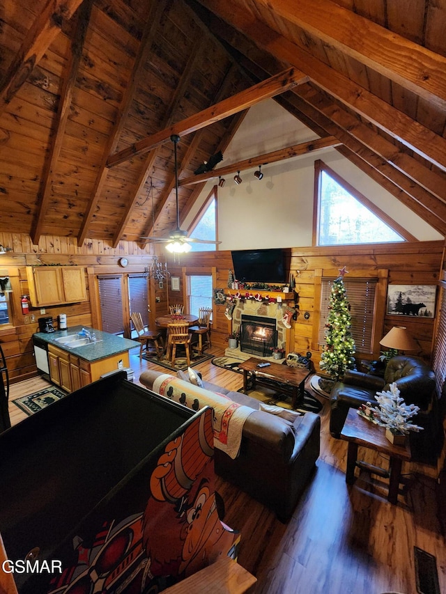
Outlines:
{"type": "Polygon", "coordinates": [[[277,347],[275,318],[242,314],[240,351],[268,357],[271,347],[277,347]]]}

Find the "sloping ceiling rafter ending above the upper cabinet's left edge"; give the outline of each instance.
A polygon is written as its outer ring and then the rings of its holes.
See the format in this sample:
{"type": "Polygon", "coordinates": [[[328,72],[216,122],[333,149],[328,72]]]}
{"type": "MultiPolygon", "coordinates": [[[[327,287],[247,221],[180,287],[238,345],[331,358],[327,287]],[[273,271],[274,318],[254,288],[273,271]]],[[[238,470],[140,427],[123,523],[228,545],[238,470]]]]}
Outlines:
{"type": "Polygon", "coordinates": [[[57,162],[61,153],[63,136],[65,135],[70,106],[72,102],[72,92],[75,88],[77,71],[82,58],[86,31],[89,26],[93,0],[85,0],[82,6],[77,10],[75,19],[75,32],[70,43],[70,56],[66,63],[66,75],[63,76],[61,95],[56,117],[53,123],[53,134],[49,143],[49,154],[45,159],[45,165],[42,173],[42,181],[38,192],[38,208],[36,210],[36,219],[31,229],[31,240],[34,245],[38,245],[40,236],[43,233],[45,214],[52,195],[52,175],[56,171],[57,162]]]}

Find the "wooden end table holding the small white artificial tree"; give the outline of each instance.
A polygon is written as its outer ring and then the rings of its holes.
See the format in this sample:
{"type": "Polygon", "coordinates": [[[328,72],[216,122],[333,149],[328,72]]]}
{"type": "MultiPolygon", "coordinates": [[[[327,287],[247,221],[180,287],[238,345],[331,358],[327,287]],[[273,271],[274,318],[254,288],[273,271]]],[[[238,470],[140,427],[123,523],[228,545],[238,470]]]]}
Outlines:
{"type": "Polygon", "coordinates": [[[346,483],[352,485],[355,482],[355,467],[377,474],[389,479],[389,492],[387,500],[390,503],[397,503],[399,483],[401,482],[401,465],[403,461],[410,461],[410,444],[406,440],[405,446],[394,446],[385,437],[385,428],[367,421],[357,414],[356,409],[348,409],[346,422],[341,431],[341,439],[348,441],[346,483]],[[377,452],[388,455],[390,458],[389,469],[367,464],[357,460],[357,448],[363,446],[377,452]]]}

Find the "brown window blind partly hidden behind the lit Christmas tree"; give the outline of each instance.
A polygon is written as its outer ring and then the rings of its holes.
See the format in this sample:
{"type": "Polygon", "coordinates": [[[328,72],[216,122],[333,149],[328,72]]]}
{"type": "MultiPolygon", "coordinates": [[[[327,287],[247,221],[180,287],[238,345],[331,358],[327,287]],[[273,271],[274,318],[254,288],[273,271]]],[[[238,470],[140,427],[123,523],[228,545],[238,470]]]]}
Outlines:
{"type": "MultiPolygon", "coordinates": [[[[328,318],[330,295],[334,279],[322,279],[321,322],[319,344],[325,345],[325,322],[328,318]]],[[[346,297],[350,304],[351,335],[355,350],[359,353],[372,352],[372,331],[377,279],[344,279],[346,297]]]]}

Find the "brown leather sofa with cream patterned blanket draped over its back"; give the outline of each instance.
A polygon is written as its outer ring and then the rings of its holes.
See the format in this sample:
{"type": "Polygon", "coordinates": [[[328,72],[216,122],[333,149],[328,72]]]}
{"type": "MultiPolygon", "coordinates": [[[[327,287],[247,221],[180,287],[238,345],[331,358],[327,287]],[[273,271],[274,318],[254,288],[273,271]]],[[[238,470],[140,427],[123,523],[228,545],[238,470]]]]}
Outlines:
{"type": "MultiPolygon", "coordinates": [[[[155,370],[144,371],[139,381],[153,390],[153,382],[160,375],[155,370]]],[[[187,381],[178,380],[178,386],[187,396],[187,381]]],[[[237,458],[215,449],[215,472],[274,510],[277,518],[286,522],[314,471],[320,450],[320,417],[307,412],[293,422],[286,421],[259,410],[259,400],[243,393],[206,381],[203,389],[255,409],[243,425],[237,458]]]]}

